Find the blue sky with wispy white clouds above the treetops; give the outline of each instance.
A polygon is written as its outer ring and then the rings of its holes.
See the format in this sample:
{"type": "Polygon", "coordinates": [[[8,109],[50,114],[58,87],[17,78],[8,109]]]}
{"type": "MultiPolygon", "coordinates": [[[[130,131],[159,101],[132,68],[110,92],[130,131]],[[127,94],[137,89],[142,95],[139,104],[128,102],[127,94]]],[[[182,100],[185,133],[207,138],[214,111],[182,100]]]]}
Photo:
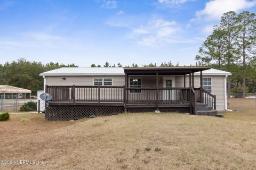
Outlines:
{"type": "Polygon", "coordinates": [[[0,63],[194,65],[220,16],[243,10],[256,0],[0,0],[0,63]]]}

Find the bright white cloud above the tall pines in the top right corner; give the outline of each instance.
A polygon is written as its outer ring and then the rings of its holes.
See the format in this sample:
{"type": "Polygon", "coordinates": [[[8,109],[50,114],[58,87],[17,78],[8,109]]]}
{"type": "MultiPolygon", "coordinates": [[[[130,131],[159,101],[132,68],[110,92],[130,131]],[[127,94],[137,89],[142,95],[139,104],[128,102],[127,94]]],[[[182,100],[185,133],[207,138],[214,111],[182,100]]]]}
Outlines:
{"type": "MultiPolygon", "coordinates": [[[[206,3],[203,10],[196,12],[196,19],[218,20],[223,13],[239,11],[256,5],[256,0],[211,0],[206,3]]],[[[193,20],[196,20],[193,19],[193,20]]]]}

